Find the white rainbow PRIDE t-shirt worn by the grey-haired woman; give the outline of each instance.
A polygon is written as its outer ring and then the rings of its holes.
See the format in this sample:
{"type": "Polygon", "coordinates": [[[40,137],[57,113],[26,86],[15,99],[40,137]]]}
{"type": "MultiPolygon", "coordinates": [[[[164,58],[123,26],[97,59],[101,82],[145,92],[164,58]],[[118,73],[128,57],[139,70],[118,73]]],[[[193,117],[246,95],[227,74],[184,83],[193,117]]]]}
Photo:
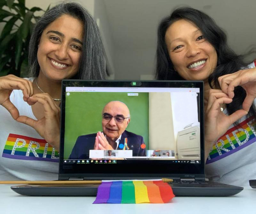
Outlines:
{"type": "MultiPolygon", "coordinates": [[[[10,100],[20,115],[36,120],[21,90],[13,90],[10,100]]],[[[0,180],[58,179],[58,152],[32,127],[15,121],[1,105],[0,118],[0,180]]]]}

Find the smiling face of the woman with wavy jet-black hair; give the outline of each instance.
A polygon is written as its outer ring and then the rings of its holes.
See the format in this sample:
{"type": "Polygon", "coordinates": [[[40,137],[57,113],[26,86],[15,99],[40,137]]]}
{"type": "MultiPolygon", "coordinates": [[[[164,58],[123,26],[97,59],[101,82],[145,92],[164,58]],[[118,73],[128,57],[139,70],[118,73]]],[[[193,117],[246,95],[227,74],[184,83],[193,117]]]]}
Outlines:
{"type": "Polygon", "coordinates": [[[217,66],[215,48],[192,22],[173,22],[165,33],[165,43],[174,69],[185,80],[207,81],[217,66]]]}

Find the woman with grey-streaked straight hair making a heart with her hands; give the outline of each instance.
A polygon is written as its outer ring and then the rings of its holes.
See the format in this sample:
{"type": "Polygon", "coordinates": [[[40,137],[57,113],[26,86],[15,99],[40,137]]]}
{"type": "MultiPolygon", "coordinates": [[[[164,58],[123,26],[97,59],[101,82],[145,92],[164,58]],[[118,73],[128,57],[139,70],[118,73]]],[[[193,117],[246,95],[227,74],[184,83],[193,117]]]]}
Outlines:
{"type": "Polygon", "coordinates": [[[61,80],[105,77],[89,12],[76,3],[47,11],[31,36],[29,66],[30,78],[0,77],[0,179],[57,179],[61,80]]]}

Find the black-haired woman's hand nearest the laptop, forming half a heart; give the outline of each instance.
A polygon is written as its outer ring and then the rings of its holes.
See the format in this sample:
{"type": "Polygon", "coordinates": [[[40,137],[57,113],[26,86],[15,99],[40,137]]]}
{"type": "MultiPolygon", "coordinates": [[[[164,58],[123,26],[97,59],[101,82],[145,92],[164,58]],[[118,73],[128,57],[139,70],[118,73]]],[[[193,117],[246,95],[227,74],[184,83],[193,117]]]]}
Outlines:
{"type": "Polygon", "coordinates": [[[248,113],[244,109],[239,109],[231,115],[225,115],[220,107],[222,104],[231,102],[232,99],[228,98],[228,95],[223,91],[217,89],[209,91],[204,123],[205,159],[209,155],[214,143],[226,133],[229,126],[248,113]]]}

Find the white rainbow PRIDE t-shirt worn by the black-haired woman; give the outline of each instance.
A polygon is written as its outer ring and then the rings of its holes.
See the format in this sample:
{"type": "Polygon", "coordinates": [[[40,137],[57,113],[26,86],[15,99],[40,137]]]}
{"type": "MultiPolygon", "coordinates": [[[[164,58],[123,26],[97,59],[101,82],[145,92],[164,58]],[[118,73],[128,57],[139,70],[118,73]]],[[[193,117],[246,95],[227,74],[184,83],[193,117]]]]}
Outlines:
{"type": "MultiPolygon", "coordinates": [[[[256,61],[248,68],[255,66],[256,61]]],[[[227,114],[226,109],[223,113],[227,114]]],[[[218,139],[206,161],[207,178],[236,186],[249,186],[248,180],[256,179],[255,123],[253,116],[244,116],[237,126],[231,125],[218,139]]]]}

